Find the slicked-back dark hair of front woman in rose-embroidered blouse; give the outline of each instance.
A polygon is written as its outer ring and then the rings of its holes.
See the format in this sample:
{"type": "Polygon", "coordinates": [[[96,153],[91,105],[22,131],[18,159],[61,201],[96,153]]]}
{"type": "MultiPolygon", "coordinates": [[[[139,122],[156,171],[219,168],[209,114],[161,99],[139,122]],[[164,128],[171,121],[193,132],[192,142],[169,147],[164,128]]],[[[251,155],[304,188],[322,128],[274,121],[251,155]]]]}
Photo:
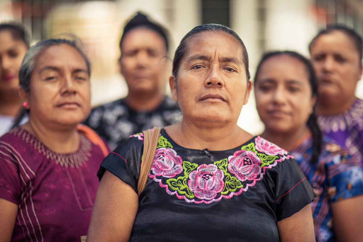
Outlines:
{"type": "MultiPolygon", "coordinates": [[[[191,31],[189,31],[189,33],[187,33],[183,37],[183,39],[181,39],[178,48],[176,48],[175,55],[174,55],[174,60],[173,60],[173,75],[174,75],[174,78],[178,81],[178,71],[179,71],[180,61],[183,59],[183,57],[185,55],[189,39],[196,36],[199,33],[207,32],[207,31],[213,31],[213,32],[220,31],[220,32],[230,34],[231,36],[233,36],[238,41],[238,43],[241,44],[242,52],[243,52],[242,53],[243,64],[245,66],[247,84],[249,84],[248,81],[250,79],[250,73],[249,73],[249,70],[248,70],[248,54],[247,54],[246,47],[243,44],[243,41],[241,40],[241,38],[238,36],[238,34],[236,34],[236,32],[234,32],[232,29],[228,28],[227,26],[220,25],[220,24],[203,24],[203,25],[196,26],[191,31]]],[[[228,44],[228,43],[226,43],[226,44],[228,44]]]]}

